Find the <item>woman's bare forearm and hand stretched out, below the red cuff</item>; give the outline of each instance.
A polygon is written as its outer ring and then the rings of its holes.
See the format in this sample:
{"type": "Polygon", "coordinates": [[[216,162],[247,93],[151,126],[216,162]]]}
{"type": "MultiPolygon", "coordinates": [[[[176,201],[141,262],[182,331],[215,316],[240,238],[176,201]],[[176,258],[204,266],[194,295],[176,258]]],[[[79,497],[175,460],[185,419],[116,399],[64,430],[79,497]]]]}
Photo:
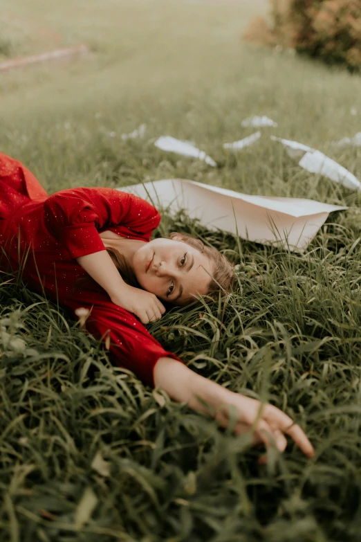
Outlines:
{"type": "Polygon", "coordinates": [[[172,358],[162,357],[158,360],[154,367],[154,384],[165,390],[172,399],[185,402],[199,412],[215,415],[223,427],[228,426],[230,406],[233,407],[237,413],[234,432],[241,435],[255,425],[254,444],[263,442],[269,446],[273,440],[277,449],[283,452],[287,445],[285,435],[289,435],[308,457],[314,455],[313,446],[302,428],[279,408],[231,392],[172,358]]]}

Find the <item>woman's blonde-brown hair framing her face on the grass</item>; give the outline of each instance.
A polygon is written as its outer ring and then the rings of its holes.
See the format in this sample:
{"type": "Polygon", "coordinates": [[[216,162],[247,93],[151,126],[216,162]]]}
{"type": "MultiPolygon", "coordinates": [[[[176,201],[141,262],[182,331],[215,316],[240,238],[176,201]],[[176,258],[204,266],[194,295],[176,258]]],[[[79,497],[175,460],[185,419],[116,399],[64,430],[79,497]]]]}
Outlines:
{"type": "MultiPolygon", "coordinates": [[[[221,296],[230,293],[233,284],[233,268],[231,262],[225,258],[223,254],[214,249],[212,246],[206,246],[201,240],[187,235],[186,233],[171,233],[169,239],[180,241],[189,246],[192,246],[197,251],[204,254],[212,264],[212,276],[210,276],[210,284],[207,289],[208,298],[217,300],[219,295],[221,296]]],[[[133,269],[124,258],[124,256],[116,249],[107,249],[115,267],[118,269],[122,279],[131,286],[138,287],[139,284],[136,280],[136,275],[133,269]]],[[[192,302],[194,299],[189,300],[192,302]]]]}

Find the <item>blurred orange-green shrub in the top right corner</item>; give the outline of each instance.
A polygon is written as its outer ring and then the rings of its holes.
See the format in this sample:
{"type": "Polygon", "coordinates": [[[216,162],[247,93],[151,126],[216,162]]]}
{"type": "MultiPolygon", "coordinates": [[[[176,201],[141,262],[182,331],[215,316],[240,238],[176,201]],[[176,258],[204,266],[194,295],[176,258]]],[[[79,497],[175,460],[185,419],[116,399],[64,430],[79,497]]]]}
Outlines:
{"type": "Polygon", "coordinates": [[[254,19],[243,37],[361,69],[361,0],[271,0],[272,25],[254,19]]]}

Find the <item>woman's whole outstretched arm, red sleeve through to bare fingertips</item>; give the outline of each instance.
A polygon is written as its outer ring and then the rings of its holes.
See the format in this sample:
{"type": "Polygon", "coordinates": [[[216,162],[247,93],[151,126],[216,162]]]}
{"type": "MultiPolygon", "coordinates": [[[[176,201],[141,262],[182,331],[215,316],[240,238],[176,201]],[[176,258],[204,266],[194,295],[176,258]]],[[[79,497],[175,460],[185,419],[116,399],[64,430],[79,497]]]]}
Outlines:
{"type": "Polygon", "coordinates": [[[88,309],[86,328],[105,341],[117,365],[131,370],[145,383],[162,388],[172,399],[187,403],[199,412],[215,415],[224,427],[229,424],[232,406],[237,413],[234,431],[241,435],[255,426],[255,444],[268,445],[270,440],[275,440],[277,449],[284,451],[287,444],[284,435],[289,435],[306,455],[313,456],[312,444],[304,431],[281,410],[231,392],[196,374],[172,352],[167,352],[132,314],[101,293],[89,291],[89,299],[85,298],[85,292],[77,291],[66,305],[73,310],[88,309]]]}

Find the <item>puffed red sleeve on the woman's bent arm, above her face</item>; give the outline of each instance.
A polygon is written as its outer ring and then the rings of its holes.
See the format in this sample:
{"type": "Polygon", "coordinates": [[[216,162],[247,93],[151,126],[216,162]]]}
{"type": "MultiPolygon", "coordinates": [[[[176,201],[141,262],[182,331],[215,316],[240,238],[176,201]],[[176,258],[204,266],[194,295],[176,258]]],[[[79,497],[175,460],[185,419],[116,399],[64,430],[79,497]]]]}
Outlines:
{"type": "Polygon", "coordinates": [[[104,251],[98,231],[111,229],[123,237],[149,241],[160,222],[147,201],[111,188],[62,190],[44,202],[48,231],[62,242],[71,258],[104,251]]]}

